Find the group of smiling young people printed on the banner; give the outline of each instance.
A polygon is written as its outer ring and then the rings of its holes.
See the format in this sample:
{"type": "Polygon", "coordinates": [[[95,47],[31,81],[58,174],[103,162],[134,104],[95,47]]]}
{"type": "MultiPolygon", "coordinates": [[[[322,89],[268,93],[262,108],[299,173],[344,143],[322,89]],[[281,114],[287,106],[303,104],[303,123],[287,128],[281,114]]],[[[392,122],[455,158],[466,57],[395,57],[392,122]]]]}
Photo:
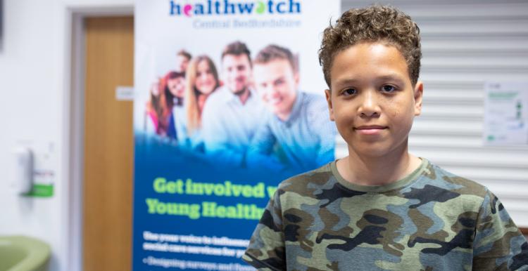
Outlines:
{"type": "Polygon", "coordinates": [[[174,70],[152,79],[144,133],[227,170],[287,176],[332,161],[337,131],[325,98],[299,89],[297,55],[256,49],[232,41],[215,63],[180,48],[174,70]]]}

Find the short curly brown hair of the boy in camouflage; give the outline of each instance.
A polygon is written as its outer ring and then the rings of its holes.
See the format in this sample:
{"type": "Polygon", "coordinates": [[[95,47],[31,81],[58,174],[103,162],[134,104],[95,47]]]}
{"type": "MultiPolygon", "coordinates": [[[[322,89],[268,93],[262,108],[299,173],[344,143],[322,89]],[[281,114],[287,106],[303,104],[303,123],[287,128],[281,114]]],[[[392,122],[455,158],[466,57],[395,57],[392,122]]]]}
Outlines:
{"type": "Polygon", "coordinates": [[[420,74],[420,28],[409,15],[391,6],[351,8],[341,15],[336,24],[323,32],[319,62],[325,81],[330,86],[330,69],[334,57],[350,46],[362,42],[382,42],[395,46],[407,62],[413,86],[420,74]]]}

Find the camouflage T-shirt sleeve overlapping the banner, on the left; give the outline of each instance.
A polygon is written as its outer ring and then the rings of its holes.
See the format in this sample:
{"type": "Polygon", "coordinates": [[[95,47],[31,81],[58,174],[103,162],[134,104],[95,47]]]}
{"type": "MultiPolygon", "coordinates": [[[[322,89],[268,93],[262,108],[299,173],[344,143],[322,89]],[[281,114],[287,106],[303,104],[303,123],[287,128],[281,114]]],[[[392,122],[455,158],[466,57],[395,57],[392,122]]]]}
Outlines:
{"type": "Polygon", "coordinates": [[[280,191],[277,190],[268,202],[242,257],[246,263],[258,270],[286,270],[280,191]]]}

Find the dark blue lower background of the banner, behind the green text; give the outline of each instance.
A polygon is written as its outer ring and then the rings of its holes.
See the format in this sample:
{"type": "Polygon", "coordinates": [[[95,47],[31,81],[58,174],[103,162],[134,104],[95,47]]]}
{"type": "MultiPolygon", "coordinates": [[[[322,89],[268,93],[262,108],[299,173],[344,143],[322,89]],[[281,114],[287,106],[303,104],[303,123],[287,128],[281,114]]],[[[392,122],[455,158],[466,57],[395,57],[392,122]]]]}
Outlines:
{"type": "MultiPolygon", "coordinates": [[[[234,206],[236,204],[256,204],[265,207],[269,197],[265,191],[263,199],[254,197],[216,197],[198,196],[188,194],[160,194],[154,191],[153,180],[158,177],[167,180],[191,178],[200,183],[223,183],[229,180],[234,184],[256,185],[263,182],[266,185],[278,184],[286,178],[280,174],[268,172],[247,171],[244,169],[227,169],[215,167],[210,159],[183,152],[177,146],[161,142],[149,135],[136,133],[135,143],[135,180],[134,180],[134,270],[143,270],[143,260],[148,256],[156,258],[179,258],[211,263],[240,263],[235,257],[205,256],[201,254],[172,253],[144,251],[143,232],[194,234],[208,237],[229,237],[231,239],[248,239],[251,236],[258,220],[234,218],[207,218],[191,219],[187,216],[172,216],[147,213],[148,207],[145,199],[153,198],[164,202],[178,202],[187,204],[202,204],[203,201],[214,201],[219,205],[234,206]]],[[[200,212],[202,210],[200,209],[200,212]]],[[[230,246],[231,249],[236,247],[230,246]]],[[[236,248],[244,249],[244,248],[236,248]]],[[[165,270],[164,267],[149,266],[148,270],[165,270]]]]}

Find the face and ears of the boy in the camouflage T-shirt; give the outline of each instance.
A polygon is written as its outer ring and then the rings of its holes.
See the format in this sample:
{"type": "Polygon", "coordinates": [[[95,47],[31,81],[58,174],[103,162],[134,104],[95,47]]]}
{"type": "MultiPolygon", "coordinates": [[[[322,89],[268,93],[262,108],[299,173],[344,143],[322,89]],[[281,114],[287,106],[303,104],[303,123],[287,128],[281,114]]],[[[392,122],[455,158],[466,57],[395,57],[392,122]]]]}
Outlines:
{"type": "Polygon", "coordinates": [[[406,60],[394,46],[356,44],[334,57],[330,119],[358,155],[403,152],[413,119],[422,110],[422,82],[413,87],[406,60]]]}

